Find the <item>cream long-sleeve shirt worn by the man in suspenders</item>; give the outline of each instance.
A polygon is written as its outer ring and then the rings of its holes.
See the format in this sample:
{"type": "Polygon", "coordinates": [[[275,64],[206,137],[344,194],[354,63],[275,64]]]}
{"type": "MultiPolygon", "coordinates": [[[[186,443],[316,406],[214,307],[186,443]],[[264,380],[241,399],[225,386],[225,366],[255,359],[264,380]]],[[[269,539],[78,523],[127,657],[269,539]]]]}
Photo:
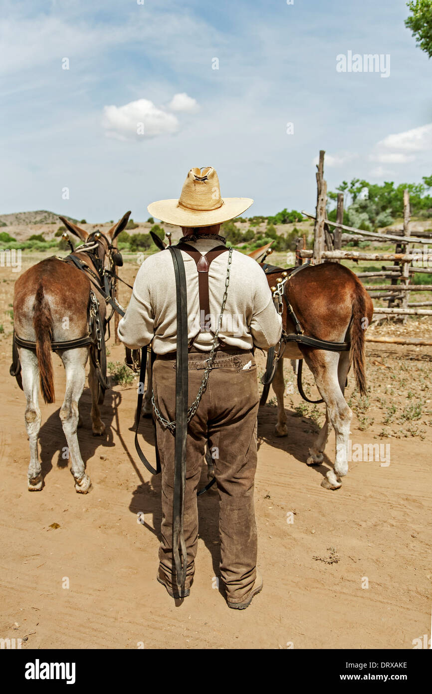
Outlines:
{"type": "MultiPolygon", "coordinates": [[[[188,242],[189,243],[189,242],[188,242]]],[[[203,255],[220,245],[211,239],[191,242],[203,255]]],[[[187,282],[189,344],[209,351],[214,330],[221,313],[228,253],[221,253],[209,268],[210,314],[205,323],[210,332],[200,331],[200,302],[198,270],[190,255],[182,251],[187,282]]],[[[175,275],[168,250],[150,255],[144,260],[135,278],[132,296],[125,316],[119,321],[119,338],[131,349],[144,347],[153,340],[156,354],[176,349],[177,305],[175,275]]],[[[282,333],[282,319],[277,313],[266,276],[252,258],[233,251],[230,285],[219,337],[225,344],[239,349],[257,347],[268,349],[277,344],[282,333]]]]}

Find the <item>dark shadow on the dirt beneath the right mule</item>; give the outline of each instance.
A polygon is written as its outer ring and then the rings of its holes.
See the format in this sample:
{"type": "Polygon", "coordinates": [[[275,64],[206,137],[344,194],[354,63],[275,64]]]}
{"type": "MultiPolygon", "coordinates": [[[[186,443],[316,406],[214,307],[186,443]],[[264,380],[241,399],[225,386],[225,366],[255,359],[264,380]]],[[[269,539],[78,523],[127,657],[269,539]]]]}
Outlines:
{"type": "MultiPolygon", "coordinates": [[[[273,448],[279,448],[279,450],[284,450],[289,455],[292,455],[296,460],[304,463],[306,466],[306,458],[308,457],[308,451],[311,447],[313,441],[316,440],[320,427],[309,417],[299,416],[293,410],[289,410],[285,407],[286,414],[286,426],[288,428],[288,435],[284,437],[279,437],[275,434],[275,426],[277,423],[277,407],[272,407],[271,405],[264,405],[259,408],[258,412],[258,452],[261,447],[261,443],[265,441],[268,446],[273,448]]],[[[329,438],[334,436],[333,430],[329,433],[329,438]]],[[[327,456],[326,453],[323,454],[322,463],[316,465],[307,466],[312,468],[314,471],[320,473],[322,477],[326,477],[329,469],[333,469],[333,461],[327,456]],[[328,467],[326,467],[326,465],[328,467]]]]}

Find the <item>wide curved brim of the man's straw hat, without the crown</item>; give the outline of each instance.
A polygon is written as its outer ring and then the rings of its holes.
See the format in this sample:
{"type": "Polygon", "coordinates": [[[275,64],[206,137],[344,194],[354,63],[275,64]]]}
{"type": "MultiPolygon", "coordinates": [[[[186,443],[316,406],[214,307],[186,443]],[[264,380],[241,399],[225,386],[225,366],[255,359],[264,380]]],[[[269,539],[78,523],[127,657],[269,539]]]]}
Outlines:
{"type": "Polygon", "coordinates": [[[211,226],[239,217],[252,205],[252,198],[223,198],[216,210],[191,210],[179,205],[178,200],[158,200],[148,205],[152,217],[176,226],[211,226]]]}

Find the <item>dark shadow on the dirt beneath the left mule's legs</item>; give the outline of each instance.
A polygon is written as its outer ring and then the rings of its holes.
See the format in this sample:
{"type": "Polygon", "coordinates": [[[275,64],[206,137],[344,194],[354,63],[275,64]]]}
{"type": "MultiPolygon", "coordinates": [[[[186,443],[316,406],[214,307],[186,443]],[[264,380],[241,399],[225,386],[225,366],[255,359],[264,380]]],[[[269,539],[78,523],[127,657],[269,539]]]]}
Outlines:
{"type": "MultiPolygon", "coordinates": [[[[96,450],[101,449],[100,452],[102,452],[103,448],[112,448],[114,446],[111,425],[114,418],[114,409],[117,406],[115,400],[118,399],[118,396],[119,393],[114,393],[110,389],[106,391],[104,403],[99,406],[101,409],[101,420],[105,424],[105,432],[102,436],[94,436],[92,432],[92,418],[90,417],[92,393],[89,388],[84,389],[78,404],[82,420],[82,425],[78,428],[78,443],[84,462],[94,456],[96,450]]],[[[60,407],[42,424],[39,432],[39,444],[44,480],[46,475],[49,475],[53,469],[53,463],[58,468],[68,467],[69,456],[67,441],[60,420],[60,407]]]]}

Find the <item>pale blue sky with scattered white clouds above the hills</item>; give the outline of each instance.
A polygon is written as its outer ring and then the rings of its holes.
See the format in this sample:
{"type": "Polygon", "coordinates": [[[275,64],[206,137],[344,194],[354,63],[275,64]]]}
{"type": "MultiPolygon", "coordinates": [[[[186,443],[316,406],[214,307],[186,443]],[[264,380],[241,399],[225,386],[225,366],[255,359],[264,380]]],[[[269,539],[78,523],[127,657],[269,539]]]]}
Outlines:
{"type": "Polygon", "coordinates": [[[0,213],[143,220],[208,165],[249,214],[313,212],[320,149],[329,189],[432,173],[432,61],[404,0],[0,6],[0,213]],[[389,55],[389,76],[336,71],[348,51],[389,55]]]}

